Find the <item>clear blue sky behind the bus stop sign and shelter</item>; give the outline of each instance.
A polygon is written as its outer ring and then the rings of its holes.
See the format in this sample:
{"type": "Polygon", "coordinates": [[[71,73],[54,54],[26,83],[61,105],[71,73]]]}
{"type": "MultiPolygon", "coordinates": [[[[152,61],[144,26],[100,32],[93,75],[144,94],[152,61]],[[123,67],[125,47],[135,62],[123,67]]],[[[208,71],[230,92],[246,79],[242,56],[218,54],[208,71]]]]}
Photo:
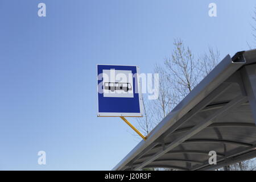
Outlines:
{"type": "MultiPolygon", "coordinates": [[[[256,2],[0,1],[0,169],[108,170],[139,142],[97,118],[96,64],[151,73],[181,38],[197,55],[249,49],[256,2]],[[47,16],[38,16],[38,3],[47,16]],[[217,4],[217,17],[208,5],[217,4]],[[46,151],[46,165],[38,151],[46,151]]],[[[135,123],[135,119],[130,119],[135,123]]]]}

